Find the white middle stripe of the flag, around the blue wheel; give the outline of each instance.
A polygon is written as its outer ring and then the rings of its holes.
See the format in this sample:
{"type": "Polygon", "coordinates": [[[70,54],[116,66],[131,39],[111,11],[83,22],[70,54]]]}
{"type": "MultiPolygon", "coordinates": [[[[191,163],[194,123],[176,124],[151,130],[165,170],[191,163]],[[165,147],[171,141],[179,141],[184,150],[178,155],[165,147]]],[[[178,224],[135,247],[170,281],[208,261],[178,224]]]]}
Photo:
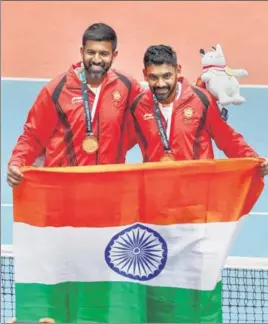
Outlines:
{"type": "MultiPolygon", "coordinates": [[[[140,283],[198,290],[211,290],[220,280],[233,236],[240,227],[237,222],[144,225],[164,238],[168,258],[158,276],[140,283]]],[[[111,270],[104,257],[111,238],[125,228],[54,228],[15,223],[16,282],[134,281],[111,270]]]]}

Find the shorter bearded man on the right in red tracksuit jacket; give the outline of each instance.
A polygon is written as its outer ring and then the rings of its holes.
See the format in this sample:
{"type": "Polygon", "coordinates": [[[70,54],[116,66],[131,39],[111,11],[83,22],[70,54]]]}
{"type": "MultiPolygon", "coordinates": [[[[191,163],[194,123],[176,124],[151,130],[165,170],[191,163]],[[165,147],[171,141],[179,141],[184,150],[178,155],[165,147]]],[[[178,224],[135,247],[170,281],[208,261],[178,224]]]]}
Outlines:
{"type": "MultiPolygon", "coordinates": [[[[215,98],[181,76],[171,47],[149,47],[143,63],[149,89],[131,110],[144,162],[213,159],[212,139],[229,158],[258,157],[221,118],[215,98]]],[[[261,173],[268,174],[268,159],[261,173]]]]}

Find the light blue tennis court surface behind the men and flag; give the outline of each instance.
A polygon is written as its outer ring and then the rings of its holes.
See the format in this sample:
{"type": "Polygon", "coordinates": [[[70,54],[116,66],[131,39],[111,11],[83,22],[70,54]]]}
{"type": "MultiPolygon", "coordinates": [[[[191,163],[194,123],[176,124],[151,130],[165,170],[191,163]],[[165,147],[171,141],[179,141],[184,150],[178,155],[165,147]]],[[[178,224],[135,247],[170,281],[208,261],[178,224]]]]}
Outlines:
{"type": "MultiPolygon", "coordinates": [[[[1,80],[1,244],[12,244],[12,191],[6,183],[7,162],[22,132],[27,112],[45,83],[44,80],[1,80]]],[[[268,157],[268,86],[243,87],[241,92],[247,102],[229,108],[229,123],[261,156],[268,157]]],[[[216,150],[216,157],[222,158],[224,154],[216,150]]],[[[127,161],[141,161],[138,147],[129,152],[127,161]]],[[[265,188],[252,214],[245,220],[230,255],[267,257],[267,247],[268,189],[265,188]]]]}

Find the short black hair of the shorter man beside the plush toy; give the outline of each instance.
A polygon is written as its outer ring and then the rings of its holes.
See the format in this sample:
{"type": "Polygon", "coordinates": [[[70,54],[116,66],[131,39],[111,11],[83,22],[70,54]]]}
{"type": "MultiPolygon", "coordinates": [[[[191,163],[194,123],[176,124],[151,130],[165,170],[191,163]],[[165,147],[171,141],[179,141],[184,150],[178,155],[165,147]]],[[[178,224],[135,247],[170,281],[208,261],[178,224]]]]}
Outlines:
{"type": "Polygon", "coordinates": [[[144,67],[149,65],[170,64],[177,65],[177,54],[168,45],[152,45],[150,46],[143,58],[144,67]]]}

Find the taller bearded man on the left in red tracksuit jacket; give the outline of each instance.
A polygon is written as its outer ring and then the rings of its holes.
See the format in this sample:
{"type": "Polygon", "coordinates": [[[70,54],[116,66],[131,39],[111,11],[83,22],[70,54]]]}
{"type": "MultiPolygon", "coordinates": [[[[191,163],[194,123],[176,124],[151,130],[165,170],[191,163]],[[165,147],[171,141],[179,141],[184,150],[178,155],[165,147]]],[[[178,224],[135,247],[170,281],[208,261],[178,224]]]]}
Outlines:
{"type": "Polygon", "coordinates": [[[135,144],[130,109],[140,84],[111,68],[117,57],[115,31],[103,23],[83,34],[82,61],[43,87],[28,113],[8,163],[10,186],[20,168],[44,155],[44,166],[124,163],[135,144]]]}

